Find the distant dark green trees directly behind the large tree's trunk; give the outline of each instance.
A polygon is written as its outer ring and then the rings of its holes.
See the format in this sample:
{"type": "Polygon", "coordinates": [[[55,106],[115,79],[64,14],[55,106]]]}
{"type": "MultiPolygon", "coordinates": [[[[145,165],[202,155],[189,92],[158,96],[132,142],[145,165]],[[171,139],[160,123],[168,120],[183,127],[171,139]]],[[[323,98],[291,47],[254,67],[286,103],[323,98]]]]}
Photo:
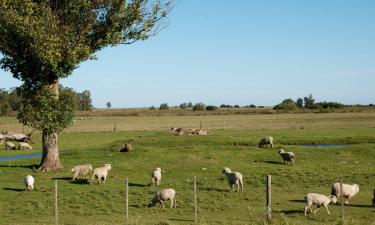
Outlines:
{"type": "MultiPolygon", "coordinates": [[[[68,96],[75,111],[89,111],[93,109],[91,93],[88,90],[76,92],[72,88],[60,85],[60,95],[68,96]]],[[[19,108],[21,97],[17,88],[0,89],[0,116],[8,116],[19,108]]]]}

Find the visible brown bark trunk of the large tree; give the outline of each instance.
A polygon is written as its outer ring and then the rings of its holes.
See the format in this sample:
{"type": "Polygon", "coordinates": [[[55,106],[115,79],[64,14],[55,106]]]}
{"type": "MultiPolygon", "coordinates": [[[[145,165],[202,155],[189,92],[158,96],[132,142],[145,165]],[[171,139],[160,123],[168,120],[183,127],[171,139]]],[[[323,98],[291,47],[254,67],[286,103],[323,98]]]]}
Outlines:
{"type": "MultiPolygon", "coordinates": [[[[49,83],[49,88],[55,94],[55,98],[59,98],[59,80],[53,80],[49,83]]],[[[40,171],[47,172],[49,170],[61,169],[63,165],[59,158],[59,149],[57,147],[57,132],[47,132],[43,130],[42,134],[43,154],[40,162],[40,171]]]]}

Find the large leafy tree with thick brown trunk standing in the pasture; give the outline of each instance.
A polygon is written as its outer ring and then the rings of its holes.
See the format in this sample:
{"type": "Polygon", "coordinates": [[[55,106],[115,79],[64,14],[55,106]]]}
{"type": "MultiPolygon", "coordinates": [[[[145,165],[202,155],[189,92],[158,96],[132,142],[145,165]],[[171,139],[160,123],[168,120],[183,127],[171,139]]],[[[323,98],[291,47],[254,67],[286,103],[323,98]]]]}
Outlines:
{"type": "Polygon", "coordinates": [[[19,120],[42,132],[40,170],[62,168],[57,138],[73,121],[59,80],[107,46],[155,35],[170,7],[152,0],[0,1],[0,66],[22,81],[19,120]]]}

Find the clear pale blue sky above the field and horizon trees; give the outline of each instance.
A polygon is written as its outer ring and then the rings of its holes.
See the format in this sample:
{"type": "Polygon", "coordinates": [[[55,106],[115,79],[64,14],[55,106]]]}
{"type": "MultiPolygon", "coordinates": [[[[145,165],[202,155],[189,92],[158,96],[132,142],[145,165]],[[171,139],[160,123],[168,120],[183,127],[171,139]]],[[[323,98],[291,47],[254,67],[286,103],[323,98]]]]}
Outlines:
{"type": "MultiPolygon", "coordinates": [[[[178,1],[158,36],[107,48],[62,84],[98,108],[375,103],[375,1],[178,1]]],[[[17,85],[0,71],[0,88],[17,85]]]]}

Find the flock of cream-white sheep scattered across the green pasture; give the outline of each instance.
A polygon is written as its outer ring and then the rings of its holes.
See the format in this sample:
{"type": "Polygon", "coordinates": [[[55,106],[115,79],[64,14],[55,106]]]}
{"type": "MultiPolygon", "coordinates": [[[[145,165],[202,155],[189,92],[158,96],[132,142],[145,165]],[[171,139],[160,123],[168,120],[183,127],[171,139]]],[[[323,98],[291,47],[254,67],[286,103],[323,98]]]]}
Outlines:
{"type": "MultiPolygon", "coordinates": [[[[172,130],[172,129],[171,129],[172,130]]],[[[175,130],[174,130],[175,131],[175,130]]],[[[180,130],[181,131],[181,130],[180,130]]],[[[180,132],[178,131],[178,132],[180,132]]],[[[20,143],[21,145],[22,143],[20,143]]],[[[26,143],[27,144],[27,143],[26,143]]],[[[6,144],[8,148],[8,142],[6,144]]],[[[9,146],[12,146],[9,144],[9,146]]],[[[264,147],[273,147],[273,138],[272,137],[264,137],[262,138],[259,143],[259,148],[264,147]]],[[[31,147],[31,146],[30,146],[31,147]]],[[[31,148],[30,148],[31,149],[31,148]]],[[[284,164],[288,161],[291,162],[293,165],[295,164],[295,154],[293,152],[286,152],[283,149],[279,149],[279,154],[281,158],[284,160],[284,164]]],[[[107,179],[108,171],[111,170],[111,164],[104,164],[102,167],[98,167],[94,169],[94,172],[91,176],[91,183],[95,182],[95,180],[101,184],[105,183],[107,179]]],[[[93,167],[91,164],[86,165],[78,165],[73,167],[73,178],[74,181],[77,179],[78,176],[83,176],[83,178],[86,178],[86,175],[93,170],[93,167]]],[[[244,182],[243,182],[243,175],[239,172],[232,172],[231,169],[228,167],[224,167],[223,174],[227,177],[228,183],[229,183],[229,191],[234,191],[234,186],[236,186],[237,192],[244,190],[244,182]]],[[[161,182],[161,168],[155,168],[151,173],[151,183],[153,186],[159,186],[161,182]]],[[[34,187],[34,178],[31,175],[27,175],[24,179],[25,186],[28,190],[32,190],[34,187]]],[[[331,214],[328,210],[329,204],[335,204],[337,203],[337,198],[344,197],[346,198],[345,204],[349,204],[350,198],[355,196],[359,192],[359,186],[358,184],[342,184],[340,183],[334,183],[331,187],[331,195],[326,196],[322,194],[317,193],[308,193],[305,196],[305,202],[306,206],[304,209],[305,216],[307,215],[307,212],[310,211],[311,213],[315,214],[319,209],[320,206],[324,206],[327,210],[328,214],[331,214]],[[317,209],[314,211],[311,209],[312,205],[317,205],[317,209]]],[[[176,207],[176,191],[172,188],[162,189],[158,191],[154,197],[149,202],[148,206],[152,207],[156,205],[157,203],[160,203],[160,205],[164,208],[164,201],[170,201],[170,207],[176,207]]],[[[373,205],[375,205],[375,192],[374,192],[374,199],[373,199],[373,205]]]]}

